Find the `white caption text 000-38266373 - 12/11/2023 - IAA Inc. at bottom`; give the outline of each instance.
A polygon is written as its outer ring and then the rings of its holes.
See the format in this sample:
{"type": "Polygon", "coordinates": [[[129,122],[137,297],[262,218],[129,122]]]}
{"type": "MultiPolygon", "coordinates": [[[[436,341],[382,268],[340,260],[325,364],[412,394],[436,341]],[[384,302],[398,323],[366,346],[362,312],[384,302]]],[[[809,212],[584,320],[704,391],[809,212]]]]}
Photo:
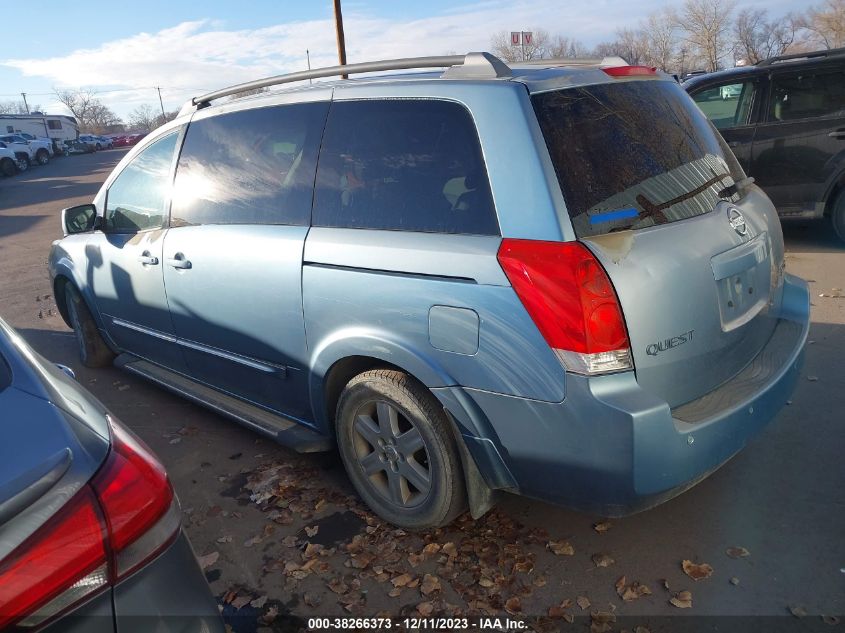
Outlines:
{"type": "Polygon", "coordinates": [[[309,618],[309,631],[342,630],[423,630],[423,631],[523,631],[528,625],[515,618],[309,618]]]}

